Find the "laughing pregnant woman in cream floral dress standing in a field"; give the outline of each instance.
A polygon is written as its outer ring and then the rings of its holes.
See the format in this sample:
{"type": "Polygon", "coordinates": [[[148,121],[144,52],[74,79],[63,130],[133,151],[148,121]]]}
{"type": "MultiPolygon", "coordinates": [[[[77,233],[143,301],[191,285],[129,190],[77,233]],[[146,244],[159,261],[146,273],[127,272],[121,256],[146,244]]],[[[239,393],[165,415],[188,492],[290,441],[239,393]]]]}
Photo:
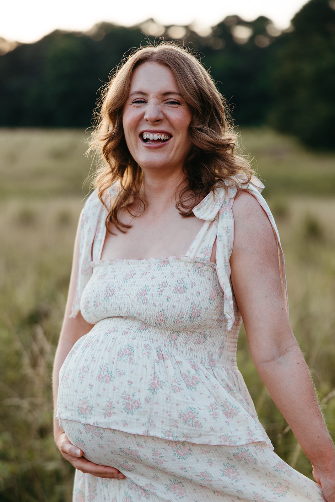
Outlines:
{"type": "Polygon", "coordinates": [[[321,502],[321,489],[335,502],[276,225],[234,140],[209,74],[173,44],[135,51],[105,89],[54,366],[76,502],[321,502]],[[236,365],[242,318],[317,484],[257,418],[236,365]]]}

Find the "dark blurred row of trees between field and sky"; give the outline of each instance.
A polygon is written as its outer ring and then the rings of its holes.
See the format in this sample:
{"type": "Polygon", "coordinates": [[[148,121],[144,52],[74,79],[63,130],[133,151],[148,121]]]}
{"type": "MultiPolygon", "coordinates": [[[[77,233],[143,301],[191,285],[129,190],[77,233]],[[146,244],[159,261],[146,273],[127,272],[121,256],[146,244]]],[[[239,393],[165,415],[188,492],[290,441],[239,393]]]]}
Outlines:
{"type": "MultiPolygon", "coordinates": [[[[57,30],[3,54],[0,126],[90,127],[110,71],[131,48],[157,39],[158,28],[149,20],[57,30]]],[[[283,33],[266,17],[229,16],[206,36],[192,27],[163,27],[163,36],[199,54],[237,124],[269,124],[311,148],[335,148],[335,0],[310,0],[283,33]]]]}

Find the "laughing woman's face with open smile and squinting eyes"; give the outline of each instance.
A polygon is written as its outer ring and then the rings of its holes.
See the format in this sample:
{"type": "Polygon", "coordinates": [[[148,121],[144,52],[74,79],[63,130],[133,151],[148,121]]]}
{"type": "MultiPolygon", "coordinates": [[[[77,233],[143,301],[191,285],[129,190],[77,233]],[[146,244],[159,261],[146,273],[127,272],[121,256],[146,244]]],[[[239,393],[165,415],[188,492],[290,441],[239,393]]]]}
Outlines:
{"type": "Polygon", "coordinates": [[[129,151],[142,169],[182,170],[192,147],[191,118],[167,66],[147,62],[134,70],[123,128],[129,151]]]}

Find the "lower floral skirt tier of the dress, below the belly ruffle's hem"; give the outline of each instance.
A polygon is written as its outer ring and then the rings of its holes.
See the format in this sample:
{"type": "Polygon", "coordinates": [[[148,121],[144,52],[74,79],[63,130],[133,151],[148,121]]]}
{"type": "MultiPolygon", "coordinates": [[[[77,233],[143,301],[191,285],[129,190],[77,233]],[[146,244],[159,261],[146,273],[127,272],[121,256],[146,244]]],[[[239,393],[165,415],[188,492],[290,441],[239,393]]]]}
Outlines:
{"type": "Polygon", "coordinates": [[[70,441],[97,464],[126,479],[76,470],[73,502],[324,501],[312,480],[292,469],[264,442],[215,446],[129,434],[60,420],[70,441]]]}

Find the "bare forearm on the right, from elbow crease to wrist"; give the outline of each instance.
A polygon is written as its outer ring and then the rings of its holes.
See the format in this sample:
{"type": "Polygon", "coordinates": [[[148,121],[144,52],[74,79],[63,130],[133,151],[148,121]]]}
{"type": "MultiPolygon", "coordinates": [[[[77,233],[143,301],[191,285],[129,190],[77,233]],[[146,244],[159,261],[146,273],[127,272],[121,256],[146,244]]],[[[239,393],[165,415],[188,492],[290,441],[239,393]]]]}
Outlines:
{"type": "Polygon", "coordinates": [[[311,463],[324,468],[333,464],[334,446],[298,345],[276,359],[263,363],[256,360],[255,365],[311,463]]]}

